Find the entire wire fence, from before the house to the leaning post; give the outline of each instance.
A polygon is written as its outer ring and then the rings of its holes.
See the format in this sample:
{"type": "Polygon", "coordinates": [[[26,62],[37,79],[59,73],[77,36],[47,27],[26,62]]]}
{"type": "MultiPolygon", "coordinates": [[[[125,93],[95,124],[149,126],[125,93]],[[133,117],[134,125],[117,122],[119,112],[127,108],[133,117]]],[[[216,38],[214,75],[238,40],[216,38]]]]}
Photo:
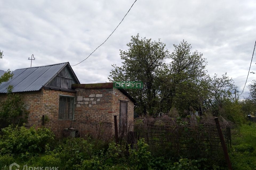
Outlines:
{"type": "MultiPolygon", "coordinates": [[[[155,155],[207,155],[221,151],[218,130],[213,119],[181,119],[163,116],[159,118],[137,118],[125,124],[117,123],[119,143],[136,144],[144,138],[149,150],[155,155]]],[[[231,147],[230,125],[220,122],[227,148],[231,147]]],[[[115,140],[114,122],[90,121],[49,121],[56,137],[88,137],[99,142],[115,140]]],[[[222,153],[222,151],[221,151],[222,153]]]]}

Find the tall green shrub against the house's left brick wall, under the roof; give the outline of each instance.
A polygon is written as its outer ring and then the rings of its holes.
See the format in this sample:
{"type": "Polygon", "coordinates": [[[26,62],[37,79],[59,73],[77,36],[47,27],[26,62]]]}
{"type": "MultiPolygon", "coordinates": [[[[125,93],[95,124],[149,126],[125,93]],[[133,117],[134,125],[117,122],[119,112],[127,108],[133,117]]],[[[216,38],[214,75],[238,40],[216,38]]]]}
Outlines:
{"type": "Polygon", "coordinates": [[[12,93],[12,86],[8,87],[7,100],[1,103],[0,108],[0,127],[8,124],[22,125],[27,120],[27,114],[21,95],[12,93]]]}

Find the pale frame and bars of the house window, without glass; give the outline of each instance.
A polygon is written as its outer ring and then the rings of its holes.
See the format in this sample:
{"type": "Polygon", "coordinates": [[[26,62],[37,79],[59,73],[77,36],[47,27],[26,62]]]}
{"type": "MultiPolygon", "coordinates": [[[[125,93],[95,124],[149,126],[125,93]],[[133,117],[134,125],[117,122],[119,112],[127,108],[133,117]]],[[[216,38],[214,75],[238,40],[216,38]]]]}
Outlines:
{"type": "Polygon", "coordinates": [[[70,96],[70,95],[59,95],[59,111],[58,111],[58,120],[74,120],[74,108],[75,108],[75,96],[70,96]],[[63,101],[60,101],[61,97],[65,97],[65,98],[68,98],[69,99],[69,102],[63,102],[63,101]],[[70,99],[73,99],[73,106],[72,106],[72,118],[66,118],[66,115],[67,117],[69,117],[69,115],[71,113],[69,113],[69,109],[71,109],[70,107],[70,99]],[[61,102],[62,103],[68,103],[69,106],[68,107],[63,107],[64,109],[68,109],[68,112],[67,113],[60,113],[61,111],[61,102]],[[62,118],[60,117],[60,115],[62,114],[62,118]]]}

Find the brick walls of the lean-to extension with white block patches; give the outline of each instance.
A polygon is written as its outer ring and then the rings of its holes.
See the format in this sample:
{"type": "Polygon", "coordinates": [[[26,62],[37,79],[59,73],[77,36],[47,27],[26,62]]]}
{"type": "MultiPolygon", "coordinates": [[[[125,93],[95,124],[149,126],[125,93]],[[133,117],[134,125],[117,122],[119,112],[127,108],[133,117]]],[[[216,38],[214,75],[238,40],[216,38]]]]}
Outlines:
{"type": "MultiPolygon", "coordinates": [[[[119,126],[120,100],[128,102],[127,122],[133,122],[134,103],[121,91],[112,88],[76,88],[74,120],[82,133],[114,134],[114,115],[119,126]]],[[[119,127],[118,127],[119,129],[119,127]]],[[[129,128],[133,130],[133,126],[129,128]]]]}

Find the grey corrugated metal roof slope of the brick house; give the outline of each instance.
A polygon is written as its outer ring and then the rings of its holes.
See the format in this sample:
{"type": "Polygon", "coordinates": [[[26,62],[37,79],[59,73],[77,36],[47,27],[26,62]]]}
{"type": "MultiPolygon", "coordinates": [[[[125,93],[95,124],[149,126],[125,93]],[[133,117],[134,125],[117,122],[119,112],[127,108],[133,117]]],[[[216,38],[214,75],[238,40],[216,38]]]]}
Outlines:
{"type": "Polygon", "coordinates": [[[0,93],[7,93],[9,85],[13,86],[13,92],[40,90],[67,64],[68,62],[14,70],[13,78],[0,84],[0,93]]]}

